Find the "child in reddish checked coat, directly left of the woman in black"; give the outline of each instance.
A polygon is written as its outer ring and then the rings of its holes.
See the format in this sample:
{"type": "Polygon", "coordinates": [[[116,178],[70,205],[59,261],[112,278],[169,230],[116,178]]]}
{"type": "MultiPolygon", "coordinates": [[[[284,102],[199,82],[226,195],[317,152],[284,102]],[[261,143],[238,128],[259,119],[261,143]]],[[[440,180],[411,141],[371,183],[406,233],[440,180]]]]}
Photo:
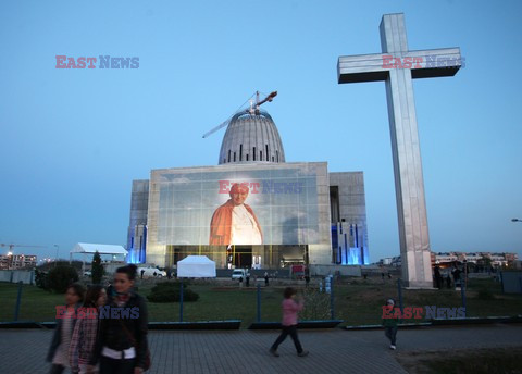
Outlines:
{"type": "MultiPolygon", "coordinates": [[[[79,311],[84,311],[83,317],[77,319],[71,338],[69,349],[69,362],[71,372],[85,374],[90,357],[95,350],[96,337],[99,326],[99,308],[107,302],[107,292],[103,286],[94,285],[87,289],[84,306],[79,311]]],[[[92,371],[98,373],[98,370],[92,371]]]]}

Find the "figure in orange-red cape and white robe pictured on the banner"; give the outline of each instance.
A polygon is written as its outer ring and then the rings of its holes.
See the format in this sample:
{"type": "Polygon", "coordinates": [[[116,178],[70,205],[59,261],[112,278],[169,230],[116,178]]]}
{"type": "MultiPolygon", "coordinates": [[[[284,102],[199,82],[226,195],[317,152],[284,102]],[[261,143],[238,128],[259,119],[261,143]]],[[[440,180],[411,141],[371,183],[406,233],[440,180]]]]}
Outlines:
{"type": "Polygon", "coordinates": [[[231,198],[219,207],[210,222],[211,246],[261,245],[263,233],[252,208],[245,203],[250,189],[248,186],[234,184],[231,198]]]}

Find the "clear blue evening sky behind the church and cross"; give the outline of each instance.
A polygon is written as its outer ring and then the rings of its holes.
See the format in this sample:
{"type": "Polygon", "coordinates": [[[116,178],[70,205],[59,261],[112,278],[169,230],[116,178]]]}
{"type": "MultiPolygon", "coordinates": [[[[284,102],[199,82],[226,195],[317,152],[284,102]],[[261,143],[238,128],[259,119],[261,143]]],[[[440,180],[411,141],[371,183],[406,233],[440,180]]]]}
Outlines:
{"type": "Polygon", "coordinates": [[[339,55],[381,51],[403,12],[409,48],[460,47],[451,78],[414,94],[432,249],[522,254],[520,1],[2,1],[0,242],[60,255],[125,245],[133,179],[214,165],[201,135],[257,89],[287,161],[363,171],[370,257],[399,253],[383,83],[338,85],[339,55]],[[139,57],[59,70],[55,55],[139,57]]]}

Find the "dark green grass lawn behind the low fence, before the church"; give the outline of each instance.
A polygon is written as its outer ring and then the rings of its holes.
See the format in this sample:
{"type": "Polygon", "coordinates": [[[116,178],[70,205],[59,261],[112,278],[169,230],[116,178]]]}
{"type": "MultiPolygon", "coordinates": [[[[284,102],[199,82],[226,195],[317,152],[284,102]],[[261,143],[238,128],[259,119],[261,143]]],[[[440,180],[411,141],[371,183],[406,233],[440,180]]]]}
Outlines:
{"type": "MultiPolygon", "coordinates": [[[[316,285],[316,282],[312,282],[316,285]]],[[[153,283],[138,283],[139,294],[150,294],[153,283]]],[[[232,283],[201,284],[189,286],[199,294],[196,302],[184,303],[185,321],[241,320],[243,327],[256,321],[256,289],[240,289],[232,283]]],[[[281,319],[281,301],[285,285],[272,282],[270,287],[261,287],[262,321],[281,319]]],[[[302,286],[299,286],[302,287],[302,286]]],[[[315,286],[316,288],[316,286],[315,286]]],[[[0,321],[13,321],[16,303],[17,285],[0,283],[0,321]]],[[[366,280],[346,279],[335,285],[335,317],[345,320],[345,325],[380,324],[382,306],[387,298],[398,299],[397,284],[381,278],[366,280]]],[[[442,290],[407,290],[402,289],[405,307],[461,307],[459,291],[442,290]]],[[[522,296],[504,295],[500,285],[492,279],[470,279],[467,292],[468,316],[517,315],[522,314],[522,296]],[[478,291],[489,292],[478,296],[478,291]],[[490,299],[488,299],[488,297],[490,299]]],[[[307,294],[307,308],[301,319],[330,319],[330,295],[316,291],[307,294]]],[[[24,285],[18,320],[53,321],[55,306],[62,304],[63,295],[50,294],[36,286],[24,285]]],[[[179,303],[148,302],[149,320],[156,322],[179,321],[179,303]]],[[[412,320],[410,322],[419,322],[412,320]]],[[[422,321],[422,320],[421,320],[422,321]]]]}

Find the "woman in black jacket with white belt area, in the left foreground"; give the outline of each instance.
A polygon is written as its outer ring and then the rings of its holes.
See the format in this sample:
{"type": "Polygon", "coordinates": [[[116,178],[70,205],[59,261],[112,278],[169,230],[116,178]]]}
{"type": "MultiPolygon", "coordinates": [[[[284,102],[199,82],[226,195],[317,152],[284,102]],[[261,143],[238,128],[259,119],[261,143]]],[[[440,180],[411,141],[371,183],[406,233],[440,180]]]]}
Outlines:
{"type": "Polygon", "coordinates": [[[136,265],[119,267],[105,307],[89,370],[100,362],[100,374],[140,374],[147,361],[147,304],[133,291],[136,265]]]}

